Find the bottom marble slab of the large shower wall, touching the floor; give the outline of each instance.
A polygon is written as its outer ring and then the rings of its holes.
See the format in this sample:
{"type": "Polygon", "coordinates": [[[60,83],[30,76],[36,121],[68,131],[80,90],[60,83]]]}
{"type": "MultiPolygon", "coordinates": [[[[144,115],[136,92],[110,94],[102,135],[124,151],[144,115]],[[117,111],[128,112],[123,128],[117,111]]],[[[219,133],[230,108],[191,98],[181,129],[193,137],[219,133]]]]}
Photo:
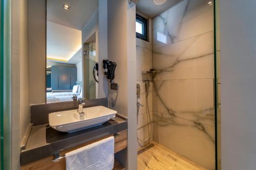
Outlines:
{"type": "Polygon", "coordinates": [[[209,170],[214,169],[214,126],[156,112],[153,117],[155,142],[209,170]]]}

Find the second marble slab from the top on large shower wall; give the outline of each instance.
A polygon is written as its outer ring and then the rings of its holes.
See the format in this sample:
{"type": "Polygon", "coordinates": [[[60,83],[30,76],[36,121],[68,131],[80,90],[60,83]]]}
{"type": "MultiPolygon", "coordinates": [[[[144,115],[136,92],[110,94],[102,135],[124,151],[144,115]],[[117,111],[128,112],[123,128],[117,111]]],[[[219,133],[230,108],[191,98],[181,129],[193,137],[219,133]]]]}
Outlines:
{"type": "Polygon", "coordinates": [[[153,51],[154,80],[214,78],[212,31],[153,51]]]}

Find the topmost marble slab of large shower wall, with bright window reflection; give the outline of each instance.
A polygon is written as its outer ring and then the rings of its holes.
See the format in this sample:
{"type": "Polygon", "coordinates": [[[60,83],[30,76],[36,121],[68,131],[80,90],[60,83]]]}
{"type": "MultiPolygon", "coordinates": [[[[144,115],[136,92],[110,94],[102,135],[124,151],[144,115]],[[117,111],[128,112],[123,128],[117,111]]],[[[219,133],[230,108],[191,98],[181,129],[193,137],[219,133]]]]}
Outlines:
{"type": "Polygon", "coordinates": [[[183,0],[153,19],[153,49],[212,31],[213,6],[205,0],[183,0]],[[157,33],[166,36],[158,41],[157,33]]]}

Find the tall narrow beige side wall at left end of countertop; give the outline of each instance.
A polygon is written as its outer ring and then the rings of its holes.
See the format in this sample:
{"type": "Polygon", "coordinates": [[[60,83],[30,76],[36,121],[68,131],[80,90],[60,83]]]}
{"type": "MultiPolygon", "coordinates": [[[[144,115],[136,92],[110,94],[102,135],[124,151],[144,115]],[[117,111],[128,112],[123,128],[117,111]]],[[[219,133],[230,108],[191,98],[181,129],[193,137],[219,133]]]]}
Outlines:
{"type": "Polygon", "coordinates": [[[28,0],[12,1],[11,169],[19,169],[20,142],[30,122],[28,0]]]}

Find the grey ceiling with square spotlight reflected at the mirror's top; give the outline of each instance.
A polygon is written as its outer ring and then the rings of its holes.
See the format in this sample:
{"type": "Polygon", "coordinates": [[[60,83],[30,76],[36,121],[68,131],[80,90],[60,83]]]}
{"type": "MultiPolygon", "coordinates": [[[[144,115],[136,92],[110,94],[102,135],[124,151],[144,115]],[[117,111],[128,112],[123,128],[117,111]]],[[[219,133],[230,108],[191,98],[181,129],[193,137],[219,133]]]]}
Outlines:
{"type": "Polygon", "coordinates": [[[47,0],[47,20],[82,30],[98,9],[98,0],[47,0]],[[62,8],[71,6],[70,10],[62,8]]]}

